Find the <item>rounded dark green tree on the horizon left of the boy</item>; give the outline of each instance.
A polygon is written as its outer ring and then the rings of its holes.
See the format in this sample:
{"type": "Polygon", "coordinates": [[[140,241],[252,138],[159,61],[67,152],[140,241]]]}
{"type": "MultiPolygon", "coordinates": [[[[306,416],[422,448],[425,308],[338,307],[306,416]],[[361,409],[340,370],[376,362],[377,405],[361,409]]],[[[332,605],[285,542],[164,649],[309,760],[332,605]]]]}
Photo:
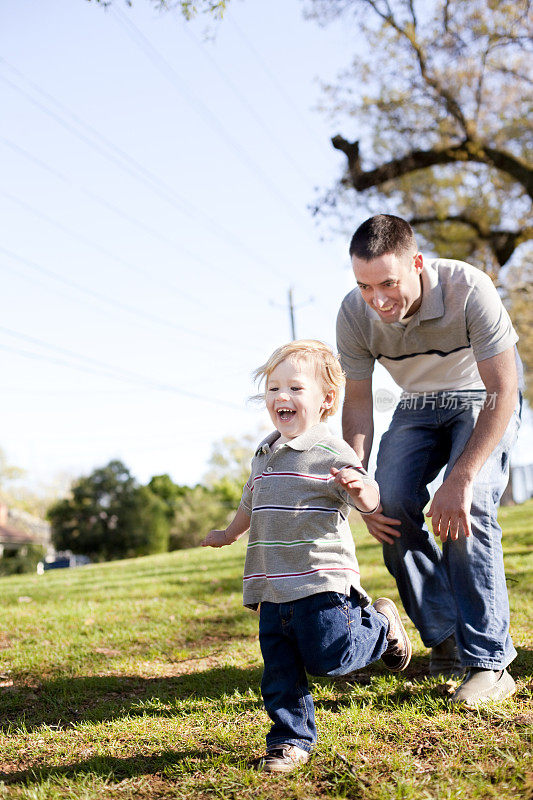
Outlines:
{"type": "Polygon", "coordinates": [[[121,461],[79,478],[71,497],[48,510],[58,550],[96,560],[165,552],[169,526],[164,503],[148,487],[138,486],[121,461]]]}

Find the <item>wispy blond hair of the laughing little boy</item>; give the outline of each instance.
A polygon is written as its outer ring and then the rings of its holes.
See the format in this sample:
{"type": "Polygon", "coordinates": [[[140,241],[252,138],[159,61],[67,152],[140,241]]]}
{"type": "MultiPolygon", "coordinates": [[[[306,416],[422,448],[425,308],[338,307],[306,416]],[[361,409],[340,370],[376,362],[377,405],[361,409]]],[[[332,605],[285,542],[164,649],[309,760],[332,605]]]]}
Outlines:
{"type": "MultiPolygon", "coordinates": [[[[318,339],[297,339],[284,344],[274,350],[268,361],[254,371],[254,380],[259,383],[266,382],[276,367],[287,359],[307,361],[314,366],[316,377],[322,382],[325,393],[331,389],[335,390],[335,399],[331,408],[324,409],[320,419],[326,419],[336,414],[339,408],[341,389],[344,388],[346,378],[338,356],[331,348],[318,339]]],[[[257,399],[264,400],[264,398],[264,394],[257,395],[257,399]]]]}

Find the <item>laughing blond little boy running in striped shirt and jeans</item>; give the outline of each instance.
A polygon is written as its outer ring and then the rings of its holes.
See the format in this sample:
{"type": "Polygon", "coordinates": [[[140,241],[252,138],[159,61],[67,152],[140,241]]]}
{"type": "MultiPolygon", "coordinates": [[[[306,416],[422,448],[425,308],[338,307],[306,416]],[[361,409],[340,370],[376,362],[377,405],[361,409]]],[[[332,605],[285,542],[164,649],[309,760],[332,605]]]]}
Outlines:
{"type": "Polygon", "coordinates": [[[260,606],[261,692],[273,723],[257,767],[289,772],[316,742],[306,672],[345,675],[379,658],[400,671],[411,644],[392,600],[370,605],[359,583],[348,514],[372,513],[379,490],[324,424],[344,385],[338,359],[322,342],[290,342],[255,377],[276,430],[255,453],[234,519],[202,544],[223,547],[250,529],[244,605],[260,606]]]}

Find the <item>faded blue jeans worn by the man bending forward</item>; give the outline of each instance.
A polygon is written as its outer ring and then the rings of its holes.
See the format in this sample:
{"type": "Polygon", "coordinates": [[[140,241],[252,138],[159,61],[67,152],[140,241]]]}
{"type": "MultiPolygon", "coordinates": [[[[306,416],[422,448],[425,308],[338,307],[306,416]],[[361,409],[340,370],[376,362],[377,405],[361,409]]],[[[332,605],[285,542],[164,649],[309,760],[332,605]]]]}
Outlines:
{"type": "Polygon", "coordinates": [[[401,537],[383,545],[385,564],[426,647],[453,633],[465,667],[503,669],[516,651],[509,636],[497,511],[509,477],[520,403],[475,480],[472,536],[460,533],[441,551],[424,523],[427,485],[445,465],[444,477],[450,473],[472,434],[485,392],[443,392],[413,400],[400,401],[378,452],[383,513],[402,523],[401,537]]]}

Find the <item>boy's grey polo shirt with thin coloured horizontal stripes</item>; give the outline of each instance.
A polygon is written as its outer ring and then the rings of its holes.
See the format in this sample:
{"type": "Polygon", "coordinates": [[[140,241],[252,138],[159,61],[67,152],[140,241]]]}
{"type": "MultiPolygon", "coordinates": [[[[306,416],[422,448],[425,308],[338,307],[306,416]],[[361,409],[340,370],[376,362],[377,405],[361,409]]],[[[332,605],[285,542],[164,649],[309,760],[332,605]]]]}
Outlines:
{"type": "Polygon", "coordinates": [[[354,503],[330,475],[331,467],[352,466],[366,476],[359,458],[324,423],[273,450],[279,436],[259,445],[240,504],[251,517],[244,605],[352,588],[366,605],[348,524],[354,503]]]}

